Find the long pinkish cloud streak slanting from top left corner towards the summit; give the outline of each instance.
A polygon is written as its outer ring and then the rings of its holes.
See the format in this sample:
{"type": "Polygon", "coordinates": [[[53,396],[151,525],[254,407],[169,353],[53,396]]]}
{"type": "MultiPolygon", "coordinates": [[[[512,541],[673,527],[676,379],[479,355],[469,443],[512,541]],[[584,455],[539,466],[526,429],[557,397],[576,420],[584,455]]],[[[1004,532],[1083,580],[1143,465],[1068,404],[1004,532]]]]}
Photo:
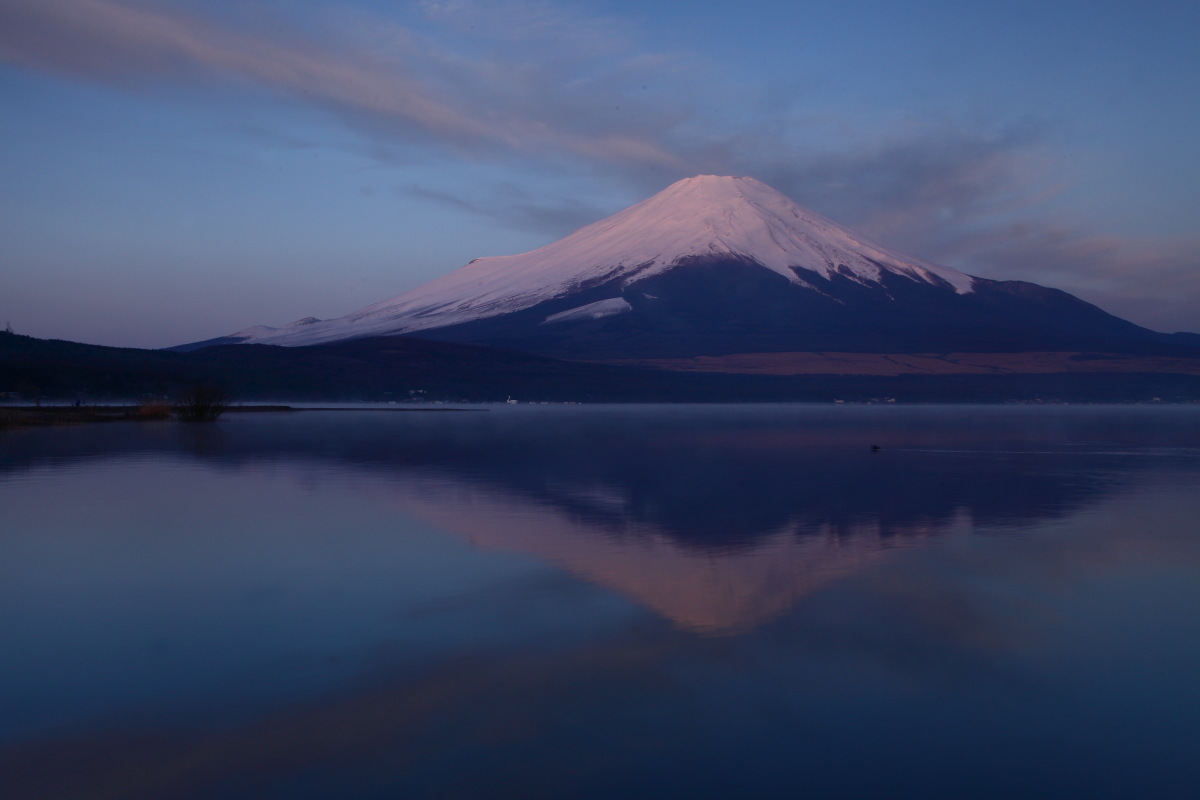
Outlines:
{"type": "MultiPolygon", "coordinates": [[[[544,28],[562,38],[548,20],[544,28]]],[[[238,83],[319,106],[356,127],[464,152],[550,151],[680,166],[628,126],[556,124],[560,114],[532,108],[542,94],[539,82],[548,79],[545,70],[467,61],[397,25],[382,24],[370,37],[348,34],[316,40],[295,29],[251,32],[128,0],[0,6],[0,60],[25,67],[131,88],[238,83]]]]}

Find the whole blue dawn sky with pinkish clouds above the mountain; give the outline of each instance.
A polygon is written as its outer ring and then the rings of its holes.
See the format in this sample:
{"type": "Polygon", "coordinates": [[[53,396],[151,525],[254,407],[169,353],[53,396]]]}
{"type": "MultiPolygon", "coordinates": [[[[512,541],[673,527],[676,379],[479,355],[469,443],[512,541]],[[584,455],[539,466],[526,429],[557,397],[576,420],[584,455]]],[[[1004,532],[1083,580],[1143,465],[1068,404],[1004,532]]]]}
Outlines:
{"type": "Polygon", "coordinates": [[[696,174],[1200,331],[1195,0],[0,0],[0,324],[330,318],[696,174]]]}

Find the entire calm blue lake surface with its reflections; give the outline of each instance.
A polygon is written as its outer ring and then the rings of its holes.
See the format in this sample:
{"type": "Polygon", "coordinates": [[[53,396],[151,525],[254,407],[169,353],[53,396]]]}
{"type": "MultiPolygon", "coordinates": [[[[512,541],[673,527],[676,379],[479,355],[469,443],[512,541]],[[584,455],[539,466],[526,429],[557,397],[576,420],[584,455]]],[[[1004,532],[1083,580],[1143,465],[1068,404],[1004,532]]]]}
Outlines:
{"type": "Polygon", "coordinates": [[[0,642],[4,798],[1195,798],[1200,408],[7,432],[0,642]]]}

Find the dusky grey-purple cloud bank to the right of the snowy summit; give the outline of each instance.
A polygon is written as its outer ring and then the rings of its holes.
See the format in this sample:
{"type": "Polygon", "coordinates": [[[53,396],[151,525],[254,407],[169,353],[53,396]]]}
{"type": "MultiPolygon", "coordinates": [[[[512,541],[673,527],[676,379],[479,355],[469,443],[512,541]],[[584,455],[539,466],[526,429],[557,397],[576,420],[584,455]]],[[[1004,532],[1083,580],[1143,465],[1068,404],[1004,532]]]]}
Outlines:
{"type": "Polygon", "coordinates": [[[1200,239],[1097,233],[1055,206],[1052,132],[925,126],[847,152],[773,161],[764,180],[904,252],[1064,289],[1158,330],[1200,330],[1200,239]]]}

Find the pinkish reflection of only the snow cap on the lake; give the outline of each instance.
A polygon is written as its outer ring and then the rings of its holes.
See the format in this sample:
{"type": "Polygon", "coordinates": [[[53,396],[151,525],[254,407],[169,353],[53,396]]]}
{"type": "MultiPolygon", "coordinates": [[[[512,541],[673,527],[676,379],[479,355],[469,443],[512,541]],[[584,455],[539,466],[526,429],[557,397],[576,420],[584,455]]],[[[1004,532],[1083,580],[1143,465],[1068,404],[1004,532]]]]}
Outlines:
{"type": "MultiPolygon", "coordinates": [[[[760,625],[892,549],[878,523],[792,522],[758,533],[754,546],[714,549],[695,547],[636,515],[622,515],[617,498],[604,513],[580,511],[608,505],[610,498],[599,494],[577,498],[576,504],[538,503],[466,481],[404,482],[388,492],[397,507],[467,537],[473,546],[534,555],[682,627],[709,633],[760,625]]],[[[889,533],[919,541],[968,527],[966,519],[956,519],[889,533]]]]}

